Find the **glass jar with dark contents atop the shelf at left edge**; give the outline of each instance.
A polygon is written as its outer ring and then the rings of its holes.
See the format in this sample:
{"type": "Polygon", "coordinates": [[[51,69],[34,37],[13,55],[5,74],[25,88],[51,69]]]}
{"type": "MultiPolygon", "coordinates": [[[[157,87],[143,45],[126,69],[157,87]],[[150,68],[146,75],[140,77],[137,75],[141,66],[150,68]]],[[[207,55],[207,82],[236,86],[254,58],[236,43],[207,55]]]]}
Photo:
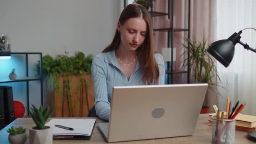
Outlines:
{"type": "Polygon", "coordinates": [[[7,34],[0,34],[0,59],[11,59],[11,43],[7,34]]]}

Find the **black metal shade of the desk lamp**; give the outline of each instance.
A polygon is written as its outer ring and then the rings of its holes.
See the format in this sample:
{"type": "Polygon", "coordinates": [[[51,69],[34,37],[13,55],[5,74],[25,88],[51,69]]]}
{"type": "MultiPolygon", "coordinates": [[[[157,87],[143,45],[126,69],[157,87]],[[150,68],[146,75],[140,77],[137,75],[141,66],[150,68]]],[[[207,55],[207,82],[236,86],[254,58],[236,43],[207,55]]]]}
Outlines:
{"type": "Polygon", "coordinates": [[[218,60],[224,67],[228,67],[231,63],[234,53],[235,45],[231,40],[218,40],[213,42],[207,49],[216,60],[218,60]]]}

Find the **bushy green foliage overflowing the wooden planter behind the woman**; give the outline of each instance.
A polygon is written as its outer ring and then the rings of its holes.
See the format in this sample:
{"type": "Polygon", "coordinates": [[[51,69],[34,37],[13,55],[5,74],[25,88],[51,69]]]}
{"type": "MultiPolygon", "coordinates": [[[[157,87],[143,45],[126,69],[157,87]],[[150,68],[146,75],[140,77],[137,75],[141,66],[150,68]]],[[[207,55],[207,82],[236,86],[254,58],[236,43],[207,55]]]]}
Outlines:
{"type": "MultiPolygon", "coordinates": [[[[50,55],[43,56],[43,76],[48,77],[49,83],[53,83],[56,90],[59,89],[58,77],[59,75],[83,75],[85,72],[91,73],[91,63],[93,55],[85,56],[82,52],[76,52],[75,56],[67,56],[65,54],[57,55],[54,59],[50,55]]],[[[40,73],[40,63],[38,61],[37,72],[40,73]]]]}

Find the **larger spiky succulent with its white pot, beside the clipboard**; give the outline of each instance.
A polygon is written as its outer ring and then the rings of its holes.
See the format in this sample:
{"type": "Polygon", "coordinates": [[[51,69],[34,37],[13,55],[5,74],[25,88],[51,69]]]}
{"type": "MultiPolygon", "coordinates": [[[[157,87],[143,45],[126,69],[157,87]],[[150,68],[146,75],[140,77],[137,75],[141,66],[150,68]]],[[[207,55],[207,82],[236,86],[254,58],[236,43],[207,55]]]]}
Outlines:
{"type": "Polygon", "coordinates": [[[34,105],[29,109],[33,121],[37,126],[29,129],[29,141],[30,144],[52,144],[53,143],[53,132],[52,128],[45,126],[45,122],[53,114],[53,111],[49,112],[50,106],[43,109],[41,105],[37,109],[34,105]]]}

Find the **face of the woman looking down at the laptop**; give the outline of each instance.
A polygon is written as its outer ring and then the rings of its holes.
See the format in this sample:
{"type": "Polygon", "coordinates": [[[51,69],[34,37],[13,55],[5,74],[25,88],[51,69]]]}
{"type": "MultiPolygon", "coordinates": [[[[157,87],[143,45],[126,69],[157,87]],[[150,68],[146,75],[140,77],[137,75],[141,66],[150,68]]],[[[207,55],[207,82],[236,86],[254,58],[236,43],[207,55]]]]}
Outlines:
{"type": "Polygon", "coordinates": [[[147,23],[143,18],[130,18],[123,25],[117,23],[120,31],[121,44],[128,51],[135,51],[145,40],[147,23]]]}

